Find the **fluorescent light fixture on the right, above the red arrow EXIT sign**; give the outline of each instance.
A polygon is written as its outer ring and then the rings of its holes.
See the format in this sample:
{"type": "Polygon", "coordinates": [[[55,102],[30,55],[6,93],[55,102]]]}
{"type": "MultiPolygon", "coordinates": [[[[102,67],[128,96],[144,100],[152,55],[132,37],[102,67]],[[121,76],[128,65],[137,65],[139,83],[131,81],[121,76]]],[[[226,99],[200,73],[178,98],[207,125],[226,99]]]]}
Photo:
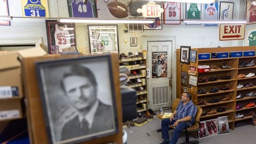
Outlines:
{"type": "Polygon", "coordinates": [[[184,19],[183,22],[187,23],[246,23],[245,20],[234,20],[234,21],[226,21],[226,20],[192,20],[192,19],[184,19]]]}

